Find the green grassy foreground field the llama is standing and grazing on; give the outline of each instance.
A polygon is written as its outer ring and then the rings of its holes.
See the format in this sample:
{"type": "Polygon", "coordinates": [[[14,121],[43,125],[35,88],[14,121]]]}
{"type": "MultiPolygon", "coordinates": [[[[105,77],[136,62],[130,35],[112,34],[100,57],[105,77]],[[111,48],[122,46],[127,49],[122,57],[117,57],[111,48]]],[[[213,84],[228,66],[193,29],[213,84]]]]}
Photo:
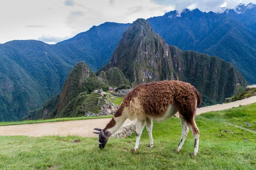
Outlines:
{"type": "Polygon", "coordinates": [[[0,169],[41,170],[151,170],[151,169],[256,169],[256,104],[197,116],[199,153],[190,132],[179,153],[179,119],[154,122],[154,147],[144,129],[139,150],[131,153],[136,134],[110,139],[102,150],[97,138],[0,136],[0,169]],[[246,124],[250,123],[250,126],[246,124]]]}

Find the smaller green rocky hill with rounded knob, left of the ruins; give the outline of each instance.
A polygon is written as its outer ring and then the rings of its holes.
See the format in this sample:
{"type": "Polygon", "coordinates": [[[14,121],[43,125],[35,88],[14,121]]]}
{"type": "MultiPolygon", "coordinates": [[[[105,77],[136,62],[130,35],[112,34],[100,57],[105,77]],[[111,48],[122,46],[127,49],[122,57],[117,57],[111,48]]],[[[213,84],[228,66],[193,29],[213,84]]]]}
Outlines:
{"type": "MultiPolygon", "coordinates": [[[[107,91],[108,86],[116,87],[130,84],[119,68],[111,68],[106,73],[102,71],[101,75],[103,74],[105,77],[96,77],[88,65],[84,62],[79,62],[71,69],[64,82],[61,94],[53,96],[41,108],[31,111],[23,119],[35,120],[84,116],[85,100],[93,90],[104,89],[107,91]]],[[[92,98],[92,96],[90,97],[92,98]]]]}

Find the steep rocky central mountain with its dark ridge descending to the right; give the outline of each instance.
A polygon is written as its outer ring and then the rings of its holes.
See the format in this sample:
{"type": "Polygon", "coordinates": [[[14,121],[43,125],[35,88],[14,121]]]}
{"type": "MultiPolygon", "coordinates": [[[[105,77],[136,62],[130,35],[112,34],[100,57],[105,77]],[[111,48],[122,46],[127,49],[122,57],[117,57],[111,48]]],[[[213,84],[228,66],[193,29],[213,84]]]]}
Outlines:
{"type": "Polygon", "coordinates": [[[125,31],[110,62],[100,71],[118,67],[133,85],[160,80],[190,82],[205,101],[224,102],[236,86],[248,83],[236,68],[218,57],[169,46],[148,21],[138,19],[125,31]]]}

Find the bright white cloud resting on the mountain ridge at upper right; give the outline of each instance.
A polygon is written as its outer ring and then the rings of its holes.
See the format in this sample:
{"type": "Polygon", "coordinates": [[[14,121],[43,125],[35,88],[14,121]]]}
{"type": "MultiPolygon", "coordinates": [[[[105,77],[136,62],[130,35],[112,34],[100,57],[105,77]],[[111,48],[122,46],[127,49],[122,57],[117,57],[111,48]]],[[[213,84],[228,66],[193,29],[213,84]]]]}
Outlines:
{"type": "Polygon", "coordinates": [[[153,2],[163,5],[175,6],[176,10],[181,12],[185,8],[193,7],[201,11],[214,11],[218,12],[220,7],[225,5],[226,8],[235,8],[243,0],[152,0],[153,2]]]}

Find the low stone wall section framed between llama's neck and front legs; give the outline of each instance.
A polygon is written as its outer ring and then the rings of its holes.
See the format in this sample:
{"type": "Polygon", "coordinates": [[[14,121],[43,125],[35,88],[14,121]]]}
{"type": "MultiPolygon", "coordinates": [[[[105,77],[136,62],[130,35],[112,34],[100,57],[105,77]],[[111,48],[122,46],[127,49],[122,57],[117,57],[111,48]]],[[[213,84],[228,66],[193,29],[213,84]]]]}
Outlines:
{"type": "Polygon", "coordinates": [[[131,136],[134,132],[136,132],[136,122],[128,122],[127,125],[121,127],[119,130],[117,130],[116,133],[114,133],[111,137],[112,138],[126,138],[128,136],[131,136]]]}

